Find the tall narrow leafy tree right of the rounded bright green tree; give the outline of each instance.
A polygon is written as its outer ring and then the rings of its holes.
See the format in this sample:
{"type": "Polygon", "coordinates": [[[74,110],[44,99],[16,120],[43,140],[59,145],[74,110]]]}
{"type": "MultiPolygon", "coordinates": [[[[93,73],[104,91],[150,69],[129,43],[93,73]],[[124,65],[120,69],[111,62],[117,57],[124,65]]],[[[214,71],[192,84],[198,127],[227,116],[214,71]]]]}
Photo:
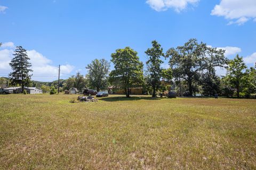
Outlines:
{"type": "Polygon", "coordinates": [[[148,48],[145,53],[149,59],[146,62],[148,82],[153,89],[152,97],[156,97],[156,90],[160,88],[160,79],[163,75],[163,69],[161,68],[163,61],[161,60],[161,56],[164,56],[164,53],[163,48],[161,48],[161,45],[156,40],[152,41],[152,45],[153,47],[148,48]]]}

